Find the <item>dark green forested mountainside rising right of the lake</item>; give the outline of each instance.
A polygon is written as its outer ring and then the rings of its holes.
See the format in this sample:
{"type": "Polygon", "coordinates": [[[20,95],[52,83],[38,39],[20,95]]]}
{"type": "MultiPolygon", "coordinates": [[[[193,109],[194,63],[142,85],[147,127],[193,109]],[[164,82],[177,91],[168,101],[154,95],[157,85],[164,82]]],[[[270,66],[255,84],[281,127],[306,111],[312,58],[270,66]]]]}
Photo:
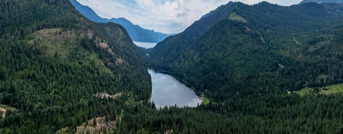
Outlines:
{"type": "Polygon", "coordinates": [[[239,92],[285,93],[341,83],[342,9],[316,3],[224,5],[158,43],[150,52],[152,66],[209,90],[216,101],[239,92]],[[220,19],[206,30],[213,24],[206,19],[213,17],[220,19]]]}

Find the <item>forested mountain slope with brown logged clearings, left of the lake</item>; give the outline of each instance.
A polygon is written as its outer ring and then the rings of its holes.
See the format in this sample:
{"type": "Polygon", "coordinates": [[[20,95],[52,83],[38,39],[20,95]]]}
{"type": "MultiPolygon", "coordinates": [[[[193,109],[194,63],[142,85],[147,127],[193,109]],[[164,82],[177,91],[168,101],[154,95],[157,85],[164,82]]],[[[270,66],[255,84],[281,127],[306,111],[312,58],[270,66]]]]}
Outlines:
{"type": "Polygon", "coordinates": [[[74,130],[149,98],[145,61],[119,24],[92,22],[68,0],[2,0],[0,27],[0,104],[16,109],[1,134],[74,130]]]}

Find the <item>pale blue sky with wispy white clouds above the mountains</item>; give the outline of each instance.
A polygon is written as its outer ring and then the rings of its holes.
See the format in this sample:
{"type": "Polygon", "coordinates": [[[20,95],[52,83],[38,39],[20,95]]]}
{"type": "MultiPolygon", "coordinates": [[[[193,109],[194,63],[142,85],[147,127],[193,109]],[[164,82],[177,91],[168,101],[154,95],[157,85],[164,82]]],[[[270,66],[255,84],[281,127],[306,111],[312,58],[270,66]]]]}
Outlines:
{"type": "Polygon", "coordinates": [[[255,4],[261,1],[289,6],[302,0],[77,0],[100,17],[124,17],[142,28],[165,34],[180,33],[201,16],[229,1],[255,4]]]}

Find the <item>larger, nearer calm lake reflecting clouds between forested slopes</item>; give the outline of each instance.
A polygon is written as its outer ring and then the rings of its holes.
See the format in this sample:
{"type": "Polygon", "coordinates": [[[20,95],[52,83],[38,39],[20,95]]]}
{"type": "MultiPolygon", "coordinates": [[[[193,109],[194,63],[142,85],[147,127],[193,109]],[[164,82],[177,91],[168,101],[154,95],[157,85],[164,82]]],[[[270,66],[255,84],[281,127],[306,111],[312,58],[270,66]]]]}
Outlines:
{"type": "Polygon", "coordinates": [[[152,81],[152,95],[156,107],[174,106],[196,107],[202,99],[187,84],[166,73],[148,69],[152,81]]]}

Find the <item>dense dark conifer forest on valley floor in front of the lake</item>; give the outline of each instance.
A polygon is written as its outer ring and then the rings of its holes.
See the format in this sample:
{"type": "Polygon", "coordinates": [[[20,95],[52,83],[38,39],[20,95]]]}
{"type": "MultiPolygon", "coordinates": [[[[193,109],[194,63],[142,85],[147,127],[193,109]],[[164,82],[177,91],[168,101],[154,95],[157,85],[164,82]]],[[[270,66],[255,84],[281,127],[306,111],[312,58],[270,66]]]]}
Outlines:
{"type": "Polygon", "coordinates": [[[342,133],[342,94],[333,96],[250,96],[249,103],[228,99],[198,108],[172,106],[156,111],[151,103],[129,106],[119,133],[246,134],[246,133],[342,133]],[[262,107],[261,107],[261,104],[262,107]],[[306,104],[306,105],[304,105],[306,104]],[[162,128],[163,126],[163,128],[162,128]]]}

